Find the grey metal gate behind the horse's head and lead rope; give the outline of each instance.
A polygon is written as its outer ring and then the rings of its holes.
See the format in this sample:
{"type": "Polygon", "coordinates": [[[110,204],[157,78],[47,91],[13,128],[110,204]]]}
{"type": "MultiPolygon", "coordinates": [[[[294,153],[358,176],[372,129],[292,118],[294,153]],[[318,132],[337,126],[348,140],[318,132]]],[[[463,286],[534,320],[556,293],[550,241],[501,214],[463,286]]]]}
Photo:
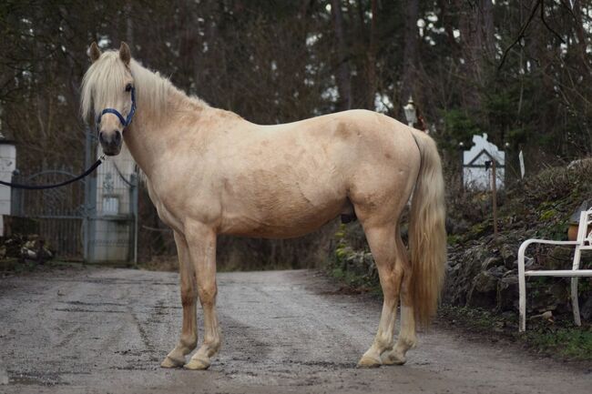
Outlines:
{"type": "MultiPolygon", "coordinates": [[[[98,156],[87,130],[85,168],[98,156]]],[[[76,177],[84,168],[60,167],[30,174],[15,171],[13,181],[47,185],[76,177]]],[[[136,262],[138,176],[131,157],[110,158],[80,181],[46,190],[12,189],[13,216],[31,223],[63,260],[136,262]],[[117,165],[117,161],[119,165],[117,165]],[[123,170],[122,170],[123,168],[123,170]]]]}

